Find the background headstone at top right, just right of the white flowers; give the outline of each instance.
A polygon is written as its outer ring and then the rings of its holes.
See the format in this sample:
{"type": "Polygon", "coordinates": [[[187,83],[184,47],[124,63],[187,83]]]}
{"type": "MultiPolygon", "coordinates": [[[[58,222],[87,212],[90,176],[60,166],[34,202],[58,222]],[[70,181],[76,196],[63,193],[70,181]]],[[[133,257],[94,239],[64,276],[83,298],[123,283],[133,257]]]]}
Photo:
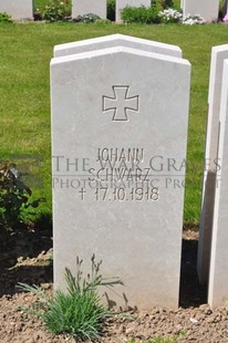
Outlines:
{"type": "Polygon", "coordinates": [[[183,0],[182,6],[184,17],[198,14],[208,22],[218,20],[219,0],[183,0]]]}

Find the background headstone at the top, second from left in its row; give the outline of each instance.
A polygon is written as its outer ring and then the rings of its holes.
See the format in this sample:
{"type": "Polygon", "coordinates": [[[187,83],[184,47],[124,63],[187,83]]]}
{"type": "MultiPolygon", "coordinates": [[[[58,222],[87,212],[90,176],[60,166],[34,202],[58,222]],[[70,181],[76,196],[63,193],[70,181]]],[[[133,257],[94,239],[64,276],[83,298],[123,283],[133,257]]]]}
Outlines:
{"type": "Polygon", "coordinates": [[[72,18],[91,13],[106,19],[106,0],[72,0],[72,18]]]}

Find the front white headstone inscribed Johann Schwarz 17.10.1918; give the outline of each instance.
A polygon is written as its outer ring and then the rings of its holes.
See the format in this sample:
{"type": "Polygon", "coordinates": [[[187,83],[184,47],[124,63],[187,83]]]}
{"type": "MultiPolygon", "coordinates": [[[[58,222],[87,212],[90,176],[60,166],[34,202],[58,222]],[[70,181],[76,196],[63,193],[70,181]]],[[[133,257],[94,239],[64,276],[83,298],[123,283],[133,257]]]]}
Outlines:
{"type": "Polygon", "coordinates": [[[124,46],[52,60],[55,288],[95,253],[117,306],[178,306],[189,81],[187,61],[124,46]]]}

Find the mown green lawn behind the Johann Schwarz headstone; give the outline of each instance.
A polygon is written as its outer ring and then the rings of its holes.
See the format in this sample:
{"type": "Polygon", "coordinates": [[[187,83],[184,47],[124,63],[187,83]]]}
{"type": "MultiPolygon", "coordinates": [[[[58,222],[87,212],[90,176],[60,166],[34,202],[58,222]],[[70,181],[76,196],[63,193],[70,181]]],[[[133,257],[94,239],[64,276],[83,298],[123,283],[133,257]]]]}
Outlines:
{"type": "MultiPolygon", "coordinates": [[[[193,65],[188,133],[185,221],[198,222],[207,119],[208,76],[213,45],[227,43],[227,25],[114,25],[73,23],[0,24],[0,155],[41,157],[46,198],[40,211],[51,214],[50,60],[53,46],[112,33],[179,45],[193,65]],[[194,167],[193,167],[194,163],[194,167]]],[[[35,157],[34,157],[35,158],[35,157]]]]}

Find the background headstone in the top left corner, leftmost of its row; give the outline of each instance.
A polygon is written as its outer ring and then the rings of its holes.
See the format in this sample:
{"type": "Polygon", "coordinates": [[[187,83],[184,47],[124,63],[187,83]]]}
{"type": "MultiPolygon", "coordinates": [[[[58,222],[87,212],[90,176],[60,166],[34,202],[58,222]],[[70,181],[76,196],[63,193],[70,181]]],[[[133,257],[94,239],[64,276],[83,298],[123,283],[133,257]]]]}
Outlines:
{"type": "Polygon", "coordinates": [[[0,12],[7,12],[13,20],[32,20],[33,0],[0,0],[0,12]]]}

